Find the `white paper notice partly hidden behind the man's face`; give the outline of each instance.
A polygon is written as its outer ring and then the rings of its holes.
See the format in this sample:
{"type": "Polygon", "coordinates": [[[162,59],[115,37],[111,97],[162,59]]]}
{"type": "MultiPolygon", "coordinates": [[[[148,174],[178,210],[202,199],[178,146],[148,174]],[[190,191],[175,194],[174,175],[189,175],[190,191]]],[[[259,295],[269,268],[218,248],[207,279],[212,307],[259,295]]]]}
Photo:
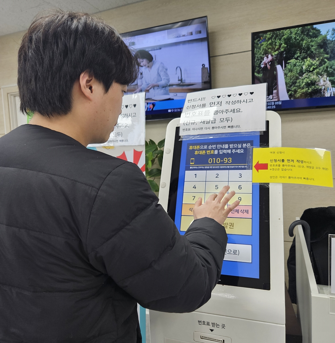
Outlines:
{"type": "Polygon", "coordinates": [[[122,113],[109,140],[88,146],[145,145],[145,93],[124,95],[122,113]]]}

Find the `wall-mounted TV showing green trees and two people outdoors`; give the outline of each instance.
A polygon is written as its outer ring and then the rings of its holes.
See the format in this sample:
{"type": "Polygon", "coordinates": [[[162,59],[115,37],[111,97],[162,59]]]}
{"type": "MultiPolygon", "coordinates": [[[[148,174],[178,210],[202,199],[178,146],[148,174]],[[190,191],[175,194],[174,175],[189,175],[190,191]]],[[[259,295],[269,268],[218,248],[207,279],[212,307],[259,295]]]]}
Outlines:
{"type": "Polygon", "coordinates": [[[267,108],[335,107],[335,20],[253,32],[252,83],[268,83],[267,108]]]}

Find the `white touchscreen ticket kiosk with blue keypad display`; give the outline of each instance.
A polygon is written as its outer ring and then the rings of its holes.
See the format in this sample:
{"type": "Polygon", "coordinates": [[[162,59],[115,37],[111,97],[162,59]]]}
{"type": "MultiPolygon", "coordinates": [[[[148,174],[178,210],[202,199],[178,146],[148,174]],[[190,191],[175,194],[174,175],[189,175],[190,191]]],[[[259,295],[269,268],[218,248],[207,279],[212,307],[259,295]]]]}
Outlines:
{"type": "Polygon", "coordinates": [[[153,342],[285,342],[281,184],[253,184],[250,147],[281,146],[278,114],[266,131],[181,139],[179,119],[166,131],[159,199],[183,235],[201,197],[229,185],[239,200],[223,226],[228,235],[219,284],[189,314],[150,311],[153,342]]]}

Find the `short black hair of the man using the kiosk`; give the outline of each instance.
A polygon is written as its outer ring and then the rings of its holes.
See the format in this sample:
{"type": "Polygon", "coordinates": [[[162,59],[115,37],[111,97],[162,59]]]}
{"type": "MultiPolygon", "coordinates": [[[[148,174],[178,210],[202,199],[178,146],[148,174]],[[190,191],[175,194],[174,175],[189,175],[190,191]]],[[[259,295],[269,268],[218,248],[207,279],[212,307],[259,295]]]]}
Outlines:
{"type": "Polygon", "coordinates": [[[86,13],[56,11],[36,19],[18,50],[17,85],[23,113],[65,115],[72,88],[84,71],[104,86],[133,83],[138,62],[120,35],[86,13]]]}

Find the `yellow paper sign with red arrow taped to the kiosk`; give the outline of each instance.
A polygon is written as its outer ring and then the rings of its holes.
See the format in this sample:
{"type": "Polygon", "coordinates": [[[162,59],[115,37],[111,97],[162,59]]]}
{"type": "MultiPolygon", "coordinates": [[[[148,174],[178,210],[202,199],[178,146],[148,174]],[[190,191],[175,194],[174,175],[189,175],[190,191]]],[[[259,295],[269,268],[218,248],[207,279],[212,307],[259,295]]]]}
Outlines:
{"type": "Polygon", "coordinates": [[[330,151],[303,148],[253,148],[252,182],[333,187],[330,151]]]}

